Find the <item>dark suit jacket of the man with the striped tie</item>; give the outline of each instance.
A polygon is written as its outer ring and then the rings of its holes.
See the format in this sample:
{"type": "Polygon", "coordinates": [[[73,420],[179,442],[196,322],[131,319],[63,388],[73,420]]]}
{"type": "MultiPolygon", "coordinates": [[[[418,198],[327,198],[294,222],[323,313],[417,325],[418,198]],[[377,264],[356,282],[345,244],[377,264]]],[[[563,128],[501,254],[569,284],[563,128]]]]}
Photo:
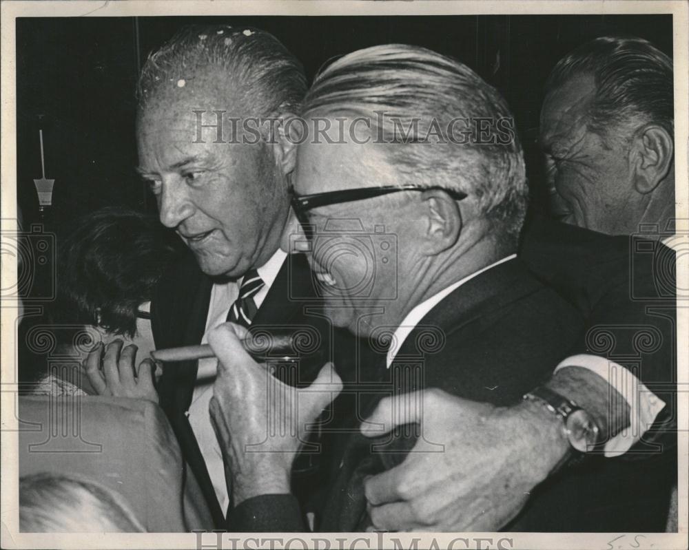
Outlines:
{"type": "MultiPolygon", "coordinates": [[[[198,268],[192,253],[183,260],[157,286],[152,299],[152,330],[157,348],[198,344],[203,337],[213,281],[198,268]]],[[[313,288],[313,277],[306,257],[289,255],[271,286],[263,304],[256,313],[253,327],[307,326],[318,332],[320,345],[298,366],[298,385],[308,385],[316,378],[326,361],[333,361],[344,371],[351,370],[354,355],[358,352],[355,339],[346,331],[333,329],[319,312],[320,305],[313,288]]],[[[196,382],[197,362],[165,365],[158,383],[161,408],[167,414],[178,438],[185,460],[198,479],[198,483],[212,511],[218,529],[225,526],[225,510],[215,495],[203,456],[192,432],[185,412],[192,402],[196,382]]],[[[341,416],[341,413],[338,414],[341,416]]],[[[305,502],[311,492],[320,487],[322,464],[327,453],[297,458],[302,472],[293,475],[293,487],[305,502]]]]}

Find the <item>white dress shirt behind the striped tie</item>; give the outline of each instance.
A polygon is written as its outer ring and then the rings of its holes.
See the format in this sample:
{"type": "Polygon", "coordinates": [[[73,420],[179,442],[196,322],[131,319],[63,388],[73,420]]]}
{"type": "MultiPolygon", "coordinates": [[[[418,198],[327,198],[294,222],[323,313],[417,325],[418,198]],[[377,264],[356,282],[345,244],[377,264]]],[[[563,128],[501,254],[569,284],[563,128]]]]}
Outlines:
{"type": "MultiPolygon", "coordinates": [[[[260,308],[261,304],[263,304],[263,300],[268,294],[268,290],[275,281],[275,278],[278,276],[278,272],[285,262],[286,257],[287,253],[278,248],[278,251],[272,255],[270,260],[256,270],[265,283],[263,288],[254,295],[256,308],[260,308]]],[[[208,315],[206,317],[206,330],[203,334],[203,339],[201,339],[201,343],[207,343],[208,332],[227,320],[227,313],[229,313],[229,308],[234,304],[234,301],[239,295],[241,283],[241,281],[236,281],[213,285],[208,315]]],[[[198,448],[206,463],[206,468],[208,469],[208,474],[213,483],[218,503],[220,503],[220,507],[223,509],[223,512],[225,512],[229,505],[229,496],[227,495],[227,485],[225,485],[223,455],[220,453],[220,443],[218,443],[218,438],[216,438],[215,432],[213,431],[208,410],[208,405],[213,396],[213,383],[215,381],[217,361],[218,360],[214,357],[198,360],[196,386],[194,386],[192,404],[189,405],[187,416],[189,417],[189,424],[192,425],[192,431],[196,437],[198,448]]]]}

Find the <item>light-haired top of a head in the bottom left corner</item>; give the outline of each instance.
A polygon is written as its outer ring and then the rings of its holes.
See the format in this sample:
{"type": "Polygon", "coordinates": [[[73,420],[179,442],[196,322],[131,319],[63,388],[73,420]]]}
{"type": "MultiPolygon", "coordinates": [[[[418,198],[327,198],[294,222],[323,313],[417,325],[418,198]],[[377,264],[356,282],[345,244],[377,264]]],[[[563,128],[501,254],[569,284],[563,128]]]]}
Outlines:
{"type": "Polygon", "coordinates": [[[141,533],[125,499],[74,474],[32,474],[19,480],[19,530],[28,533],[141,533]]]}

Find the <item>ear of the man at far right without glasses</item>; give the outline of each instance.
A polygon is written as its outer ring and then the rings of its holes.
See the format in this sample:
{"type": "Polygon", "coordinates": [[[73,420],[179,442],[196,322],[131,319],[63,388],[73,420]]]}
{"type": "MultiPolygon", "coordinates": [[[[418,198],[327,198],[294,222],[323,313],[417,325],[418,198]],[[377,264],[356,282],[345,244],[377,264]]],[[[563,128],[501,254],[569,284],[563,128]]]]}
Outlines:
{"type": "Polygon", "coordinates": [[[631,154],[635,188],[639,193],[650,193],[668,176],[674,153],[672,136],[664,127],[648,124],[637,131],[631,154]]]}

